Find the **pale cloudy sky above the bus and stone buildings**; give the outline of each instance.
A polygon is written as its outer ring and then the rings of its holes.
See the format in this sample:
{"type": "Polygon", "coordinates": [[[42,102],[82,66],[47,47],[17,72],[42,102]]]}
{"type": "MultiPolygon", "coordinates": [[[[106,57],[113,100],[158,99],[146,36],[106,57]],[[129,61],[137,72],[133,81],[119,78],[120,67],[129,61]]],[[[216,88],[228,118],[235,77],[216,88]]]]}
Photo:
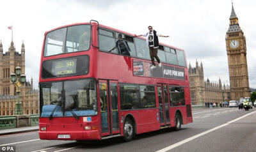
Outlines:
{"type": "MultiPolygon", "coordinates": [[[[234,0],[239,26],[246,36],[250,87],[256,88],[256,1],[234,0]]],[[[232,10],[231,0],[2,0],[0,40],[4,52],[12,41],[20,52],[26,49],[26,76],[37,89],[40,56],[45,31],[67,24],[98,20],[100,24],[134,34],[147,33],[148,26],[169,35],[160,42],[184,49],[188,63],[202,61],[204,77],[229,84],[225,36],[232,10]]]]}

